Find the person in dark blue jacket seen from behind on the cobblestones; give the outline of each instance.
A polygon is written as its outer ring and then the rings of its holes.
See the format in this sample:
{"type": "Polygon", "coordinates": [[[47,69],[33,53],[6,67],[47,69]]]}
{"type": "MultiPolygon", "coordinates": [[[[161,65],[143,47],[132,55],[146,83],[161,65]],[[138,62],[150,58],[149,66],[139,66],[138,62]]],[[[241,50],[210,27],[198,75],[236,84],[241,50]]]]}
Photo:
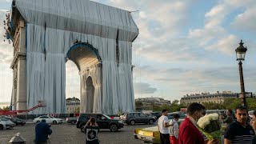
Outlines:
{"type": "Polygon", "coordinates": [[[52,133],[52,130],[50,130],[50,126],[46,123],[45,119],[42,119],[41,122],[39,122],[35,126],[35,144],[46,144],[48,135],[52,133]]]}

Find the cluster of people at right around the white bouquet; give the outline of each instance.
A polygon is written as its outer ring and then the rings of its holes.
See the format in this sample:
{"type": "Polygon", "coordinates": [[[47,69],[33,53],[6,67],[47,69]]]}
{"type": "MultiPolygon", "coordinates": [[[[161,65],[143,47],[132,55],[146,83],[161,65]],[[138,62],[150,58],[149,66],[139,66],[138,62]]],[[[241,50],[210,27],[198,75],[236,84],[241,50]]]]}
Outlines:
{"type": "Polygon", "coordinates": [[[206,114],[206,108],[202,104],[191,103],[187,107],[187,117],[180,126],[178,126],[178,114],[169,122],[168,110],[162,110],[162,116],[158,118],[160,141],[162,144],[256,144],[256,110],[251,121],[246,106],[238,106],[235,109],[235,121],[232,113],[232,110],[226,110],[226,118],[222,121],[226,124],[224,141],[222,141],[220,138],[208,140],[198,130],[198,119],[206,114]]]}

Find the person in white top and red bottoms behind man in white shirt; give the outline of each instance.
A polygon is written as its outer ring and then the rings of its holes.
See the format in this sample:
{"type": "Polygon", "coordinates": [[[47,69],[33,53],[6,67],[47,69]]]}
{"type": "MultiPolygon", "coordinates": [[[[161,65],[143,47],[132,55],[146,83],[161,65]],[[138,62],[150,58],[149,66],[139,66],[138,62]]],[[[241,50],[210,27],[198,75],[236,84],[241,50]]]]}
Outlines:
{"type": "Polygon", "coordinates": [[[174,120],[170,122],[170,143],[178,144],[178,114],[174,114],[174,120]]]}

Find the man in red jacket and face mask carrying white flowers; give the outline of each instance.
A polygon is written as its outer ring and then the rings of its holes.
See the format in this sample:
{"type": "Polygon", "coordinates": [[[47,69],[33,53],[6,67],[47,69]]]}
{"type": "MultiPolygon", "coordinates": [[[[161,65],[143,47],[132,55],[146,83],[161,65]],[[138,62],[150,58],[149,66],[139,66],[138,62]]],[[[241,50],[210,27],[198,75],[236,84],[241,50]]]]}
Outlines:
{"type": "Polygon", "coordinates": [[[198,119],[205,114],[206,108],[200,103],[194,102],[187,107],[187,117],[178,130],[179,144],[218,144],[220,142],[218,139],[205,141],[202,133],[198,130],[198,119]]]}

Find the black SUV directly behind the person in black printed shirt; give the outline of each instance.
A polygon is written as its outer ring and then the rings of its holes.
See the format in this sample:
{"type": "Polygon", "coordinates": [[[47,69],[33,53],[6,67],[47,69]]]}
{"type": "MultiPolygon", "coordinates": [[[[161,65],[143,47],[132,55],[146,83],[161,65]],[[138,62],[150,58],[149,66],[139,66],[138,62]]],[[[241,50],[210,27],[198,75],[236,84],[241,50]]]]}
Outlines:
{"type": "Polygon", "coordinates": [[[105,114],[80,114],[78,117],[77,128],[84,132],[84,126],[89,121],[90,117],[94,117],[100,129],[110,129],[111,131],[118,131],[124,124],[122,121],[112,119],[105,114]]]}

